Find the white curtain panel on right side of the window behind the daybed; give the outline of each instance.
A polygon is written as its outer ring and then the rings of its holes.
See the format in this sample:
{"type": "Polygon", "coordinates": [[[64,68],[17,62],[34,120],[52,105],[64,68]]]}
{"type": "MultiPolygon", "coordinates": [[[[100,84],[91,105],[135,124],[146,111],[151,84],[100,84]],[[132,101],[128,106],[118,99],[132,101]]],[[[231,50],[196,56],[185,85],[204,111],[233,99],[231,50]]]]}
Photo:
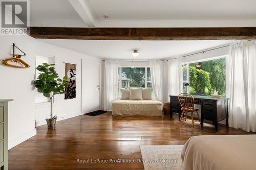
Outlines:
{"type": "Polygon", "coordinates": [[[163,61],[150,61],[153,91],[158,101],[163,102],[163,61]]]}

